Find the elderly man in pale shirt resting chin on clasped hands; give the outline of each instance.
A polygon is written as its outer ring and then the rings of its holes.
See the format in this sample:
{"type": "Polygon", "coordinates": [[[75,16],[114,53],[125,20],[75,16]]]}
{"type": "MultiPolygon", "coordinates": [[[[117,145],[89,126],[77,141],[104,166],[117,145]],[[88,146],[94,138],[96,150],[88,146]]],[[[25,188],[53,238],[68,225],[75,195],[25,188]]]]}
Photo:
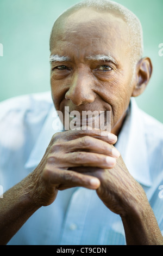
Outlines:
{"type": "Polygon", "coordinates": [[[162,124],[133,99],[152,74],[139,20],[111,1],[79,3],[54,23],[50,50],[55,111],[64,128],[72,111],[80,124],[56,133],[48,95],[1,104],[1,244],[163,245],[162,124]],[[107,112],[110,132],[89,129],[107,112]]]}

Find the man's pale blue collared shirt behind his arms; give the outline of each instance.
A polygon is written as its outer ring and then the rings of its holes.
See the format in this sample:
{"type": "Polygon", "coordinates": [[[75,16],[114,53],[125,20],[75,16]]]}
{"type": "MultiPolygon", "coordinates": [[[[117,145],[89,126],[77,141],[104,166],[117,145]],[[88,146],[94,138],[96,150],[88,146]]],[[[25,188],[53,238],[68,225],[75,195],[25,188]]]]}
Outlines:
{"type": "MultiPolygon", "coordinates": [[[[61,123],[51,93],[32,94],[0,104],[0,187],[9,189],[39,164],[61,123]]],[[[163,231],[163,126],[131,98],[130,114],[118,136],[117,149],[142,185],[163,231]]],[[[3,198],[0,198],[3,200],[3,198]]],[[[125,245],[120,216],[96,191],[59,191],[54,203],[41,207],[12,237],[9,245],[125,245]]]]}

